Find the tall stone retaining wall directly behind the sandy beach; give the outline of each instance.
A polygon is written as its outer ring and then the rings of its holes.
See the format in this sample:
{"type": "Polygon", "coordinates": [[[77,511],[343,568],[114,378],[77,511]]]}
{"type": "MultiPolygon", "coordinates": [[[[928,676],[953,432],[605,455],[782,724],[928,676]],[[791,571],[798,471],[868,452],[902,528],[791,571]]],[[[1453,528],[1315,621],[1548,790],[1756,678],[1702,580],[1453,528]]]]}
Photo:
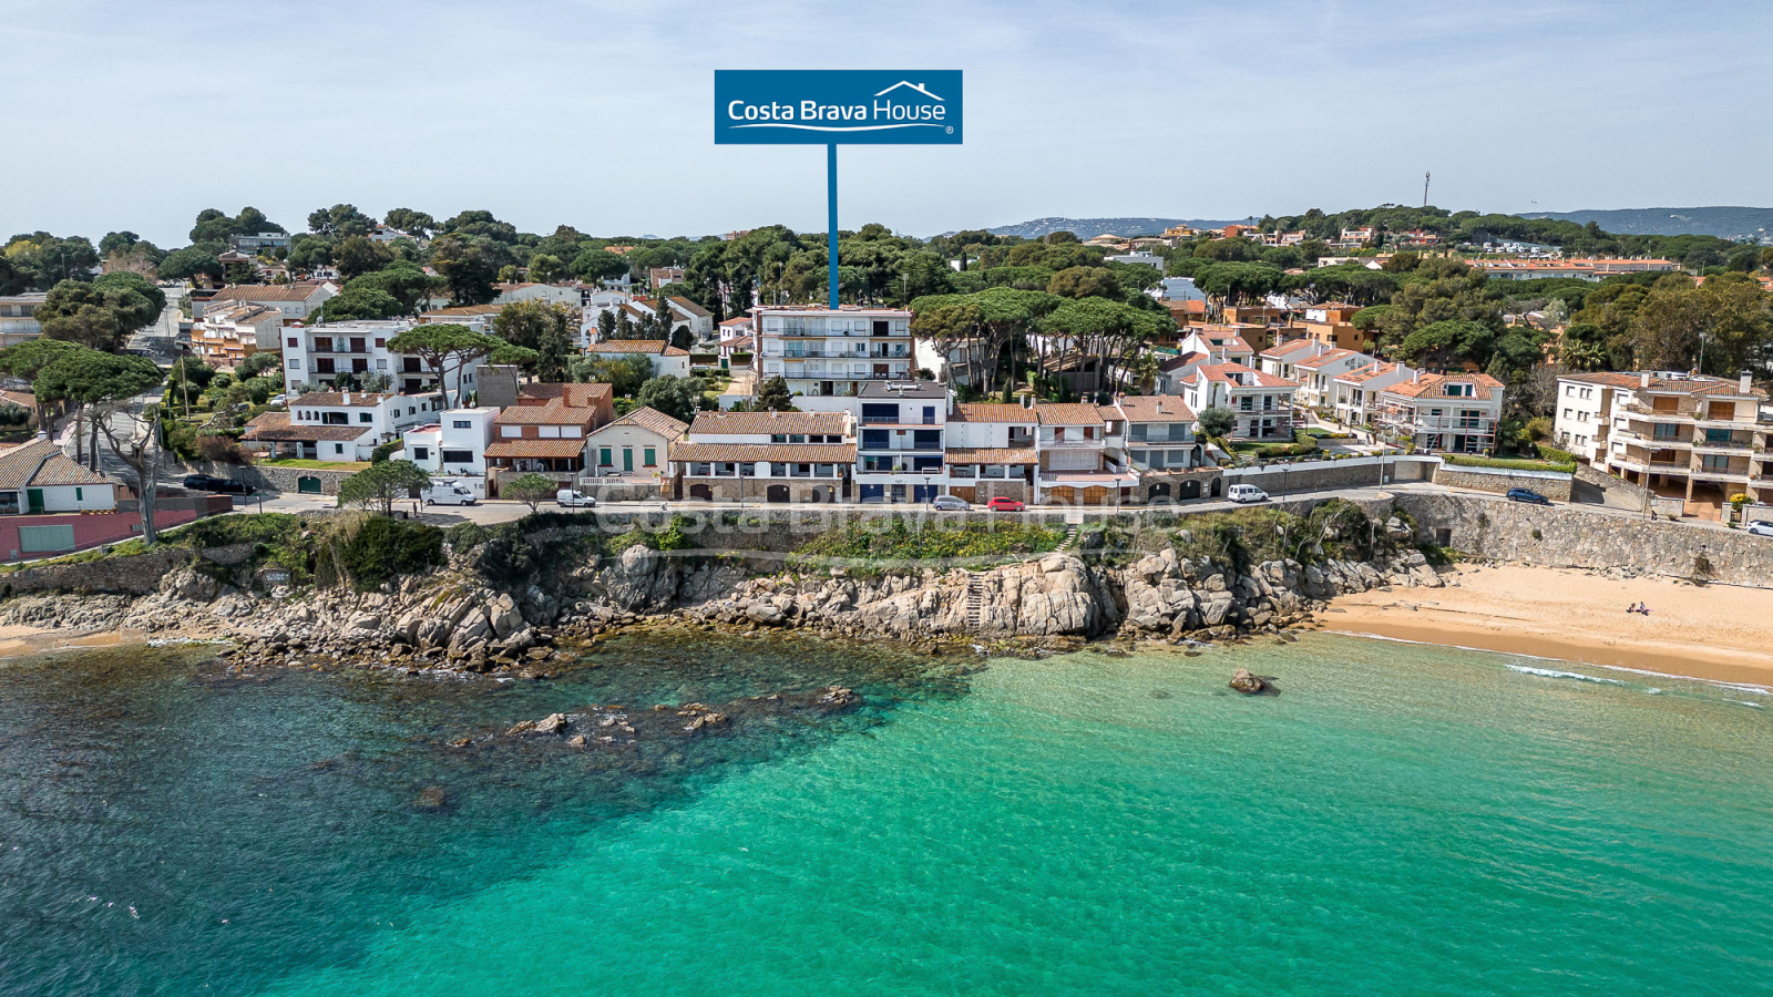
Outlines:
{"type": "Polygon", "coordinates": [[[1480,557],[1773,587],[1773,539],[1741,530],[1475,495],[1401,493],[1395,502],[1415,518],[1418,539],[1480,557]]]}

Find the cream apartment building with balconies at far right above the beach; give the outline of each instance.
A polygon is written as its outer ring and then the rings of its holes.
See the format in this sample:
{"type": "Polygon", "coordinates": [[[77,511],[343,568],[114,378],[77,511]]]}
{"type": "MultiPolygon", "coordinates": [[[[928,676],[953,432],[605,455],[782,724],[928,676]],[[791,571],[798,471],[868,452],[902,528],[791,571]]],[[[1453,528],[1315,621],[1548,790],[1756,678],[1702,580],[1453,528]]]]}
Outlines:
{"type": "Polygon", "coordinates": [[[1773,502],[1773,412],[1738,380],[1677,371],[1558,378],[1551,435],[1592,467],[1658,495],[1722,507],[1773,502]]]}

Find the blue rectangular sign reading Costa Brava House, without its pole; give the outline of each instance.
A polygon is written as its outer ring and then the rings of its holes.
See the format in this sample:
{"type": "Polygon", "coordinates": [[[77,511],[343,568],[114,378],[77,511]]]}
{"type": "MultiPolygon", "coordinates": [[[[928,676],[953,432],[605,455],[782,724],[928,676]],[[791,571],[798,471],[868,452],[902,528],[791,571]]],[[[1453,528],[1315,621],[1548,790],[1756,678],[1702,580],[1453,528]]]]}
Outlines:
{"type": "Polygon", "coordinates": [[[716,69],[718,145],[959,145],[959,69],[716,69]]]}

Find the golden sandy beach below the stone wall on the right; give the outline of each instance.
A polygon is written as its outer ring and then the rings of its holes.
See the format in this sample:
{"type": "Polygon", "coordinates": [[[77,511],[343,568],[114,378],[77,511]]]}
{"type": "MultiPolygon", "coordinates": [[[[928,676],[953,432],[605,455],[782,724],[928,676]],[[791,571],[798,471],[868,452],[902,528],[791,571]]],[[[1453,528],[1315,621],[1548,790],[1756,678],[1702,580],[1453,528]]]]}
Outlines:
{"type": "Polygon", "coordinates": [[[1773,591],[1470,566],[1445,589],[1340,596],[1333,633],[1392,637],[1773,687],[1773,591]],[[1645,603],[1649,616],[1626,612],[1645,603]]]}

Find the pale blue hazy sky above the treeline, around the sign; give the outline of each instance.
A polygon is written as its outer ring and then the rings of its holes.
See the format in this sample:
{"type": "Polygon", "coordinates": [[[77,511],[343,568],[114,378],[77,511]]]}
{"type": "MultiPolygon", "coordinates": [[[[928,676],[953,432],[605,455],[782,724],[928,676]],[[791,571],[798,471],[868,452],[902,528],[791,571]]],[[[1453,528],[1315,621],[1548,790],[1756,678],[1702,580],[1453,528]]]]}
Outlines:
{"type": "Polygon", "coordinates": [[[846,149],[842,224],[1773,204],[1773,4],[0,0],[0,238],[202,208],[824,225],[713,71],[966,71],[961,147],[846,149]],[[1700,12],[1702,11],[1702,12],[1700,12]]]}

